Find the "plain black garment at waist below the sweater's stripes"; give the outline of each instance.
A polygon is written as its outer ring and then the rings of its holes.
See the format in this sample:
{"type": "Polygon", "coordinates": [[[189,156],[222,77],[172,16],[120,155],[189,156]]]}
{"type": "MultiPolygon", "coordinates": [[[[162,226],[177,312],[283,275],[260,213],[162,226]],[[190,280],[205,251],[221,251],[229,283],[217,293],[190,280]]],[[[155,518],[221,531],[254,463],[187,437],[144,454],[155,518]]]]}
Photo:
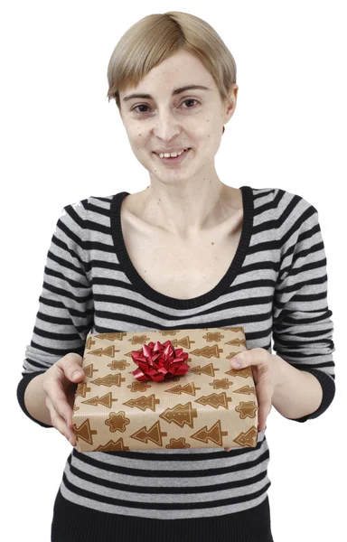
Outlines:
{"type": "Polygon", "coordinates": [[[213,518],[142,519],[54,502],[52,542],[273,542],[268,497],[258,506],[213,518]]]}

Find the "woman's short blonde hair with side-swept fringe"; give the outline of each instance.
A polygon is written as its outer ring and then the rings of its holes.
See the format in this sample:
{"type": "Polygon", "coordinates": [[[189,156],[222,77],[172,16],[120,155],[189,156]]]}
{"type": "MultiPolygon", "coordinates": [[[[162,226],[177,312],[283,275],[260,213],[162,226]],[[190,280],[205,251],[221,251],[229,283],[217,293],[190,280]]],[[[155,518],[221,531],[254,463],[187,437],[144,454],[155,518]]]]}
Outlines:
{"type": "Polygon", "coordinates": [[[117,42],[108,62],[108,102],[119,90],[139,81],[157,64],[184,50],[198,58],[220,90],[224,101],[236,83],[236,63],[220,36],[199,17],[183,12],[146,15],[133,24],[117,42]]]}

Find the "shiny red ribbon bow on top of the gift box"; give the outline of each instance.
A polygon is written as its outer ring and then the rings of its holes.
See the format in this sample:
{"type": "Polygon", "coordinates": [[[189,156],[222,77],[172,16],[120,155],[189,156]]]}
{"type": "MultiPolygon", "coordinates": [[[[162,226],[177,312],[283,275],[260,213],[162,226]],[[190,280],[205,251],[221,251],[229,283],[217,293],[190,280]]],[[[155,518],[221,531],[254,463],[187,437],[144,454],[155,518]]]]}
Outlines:
{"type": "Polygon", "coordinates": [[[183,352],[183,348],[174,349],[171,341],[148,342],[144,344],[141,350],[133,350],[131,357],[138,365],[139,369],[133,372],[137,380],[161,380],[181,377],[189,365],[184,363],[188,358],[188,353],[183,352]]]}

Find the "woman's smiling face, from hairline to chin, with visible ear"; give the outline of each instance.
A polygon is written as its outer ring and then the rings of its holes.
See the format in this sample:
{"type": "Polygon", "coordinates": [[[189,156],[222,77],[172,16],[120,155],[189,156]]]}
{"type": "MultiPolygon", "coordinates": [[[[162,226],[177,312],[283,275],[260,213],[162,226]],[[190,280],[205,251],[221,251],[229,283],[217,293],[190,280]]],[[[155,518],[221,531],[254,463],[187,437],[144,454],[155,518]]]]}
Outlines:
{"type": "Polygon", "coordinates": [[[223,104],[211,73],[187,51],[155,66],[136,88],[119,92],[120,116],[131,148],[151,179],[177,182],[213,175],[222,126],[235,110],[237,92],[238,86],[232,85],[230,100],[223,104]],[[175,92],[192,85],[204,89],[175,92]],[[158,154],[187,148],[172,162],[158,154]]]}

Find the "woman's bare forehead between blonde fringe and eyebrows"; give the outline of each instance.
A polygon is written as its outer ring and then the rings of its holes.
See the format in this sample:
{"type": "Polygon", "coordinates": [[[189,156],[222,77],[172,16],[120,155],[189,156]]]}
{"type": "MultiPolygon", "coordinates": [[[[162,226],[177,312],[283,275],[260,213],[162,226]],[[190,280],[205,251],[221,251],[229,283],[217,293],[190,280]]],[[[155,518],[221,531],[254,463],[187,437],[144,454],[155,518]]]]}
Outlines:
{"type": "MultiPolygon", "coordinates": [[[[171,93],[174,89],[183,89],[192,85],[205,89],[217,88],[211,73],[199,59],[188,51],[178,51],[152,68],[137,86],[128,85],[127,89],[119,92],[119,96],[121,99],[127,98],[135,91],[152,95],[163,91],[166,94],[167,91],[171,93]]],[[[201,90],[205,92],[204,89],[201,90]]]]}

